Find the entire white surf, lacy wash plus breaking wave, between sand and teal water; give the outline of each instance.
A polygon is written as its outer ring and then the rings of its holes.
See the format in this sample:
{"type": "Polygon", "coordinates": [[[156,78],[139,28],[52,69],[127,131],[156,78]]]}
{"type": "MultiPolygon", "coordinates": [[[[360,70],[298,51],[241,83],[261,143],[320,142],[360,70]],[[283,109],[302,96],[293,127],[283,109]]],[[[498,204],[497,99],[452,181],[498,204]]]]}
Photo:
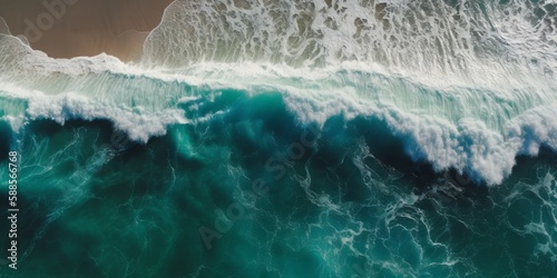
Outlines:
{"type": "Polygon", "coordinates": [[[211,118],[180,111],[194,99],[272,88],[300,125],[378,118],[414,160],[497,185],[516,156],[557,149],[554,6],[176,1],[134,64],[51,59],[4,34],[2,119],[108,119],[147,142],[211,118]]]}

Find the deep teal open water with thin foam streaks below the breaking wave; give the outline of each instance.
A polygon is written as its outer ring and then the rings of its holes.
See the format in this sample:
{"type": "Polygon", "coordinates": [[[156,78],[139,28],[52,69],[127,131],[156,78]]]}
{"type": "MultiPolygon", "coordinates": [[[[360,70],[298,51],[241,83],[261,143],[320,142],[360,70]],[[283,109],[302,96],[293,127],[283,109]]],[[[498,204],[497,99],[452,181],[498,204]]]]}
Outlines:
{"type": "Polygon", "coordinates": [[[458,185],[466,179],[412,163],[384,122],[332,118],[313,137],[294,120],[268,93],[147,145],[115,141],[106,121],[31,123],[13,136],[25,208],[18,277],[557,271],[554,153],[519,158],[495,188],[458,185]],[[289,152],[304,133],[315,143],[289,152]],[[270,159],[284,175],[265,169],[270,159]],[[254,197],[260,178],[270,188],[254,197]],[[209,248],[201,228],[218,234],[209,248]]]}

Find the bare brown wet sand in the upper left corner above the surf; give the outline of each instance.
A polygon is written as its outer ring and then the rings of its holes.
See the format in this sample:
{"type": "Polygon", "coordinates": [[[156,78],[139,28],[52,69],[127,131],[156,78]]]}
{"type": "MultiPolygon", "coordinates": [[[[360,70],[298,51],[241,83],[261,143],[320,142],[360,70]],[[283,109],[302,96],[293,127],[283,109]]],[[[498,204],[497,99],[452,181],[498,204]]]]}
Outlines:
{"type": "Polygon", "coordinates": [[[124,61],[140,57],[148,32],[172,0],[0,0],[13,36],[55,58],[102,52],[124,61]]]}

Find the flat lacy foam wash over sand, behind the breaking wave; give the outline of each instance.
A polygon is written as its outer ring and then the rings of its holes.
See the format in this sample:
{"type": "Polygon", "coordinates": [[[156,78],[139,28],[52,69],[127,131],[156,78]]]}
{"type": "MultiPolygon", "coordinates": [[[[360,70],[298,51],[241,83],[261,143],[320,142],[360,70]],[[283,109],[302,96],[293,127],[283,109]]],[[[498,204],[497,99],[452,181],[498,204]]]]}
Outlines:
{"type": "Polygon", "coordinates": [[[356,61],[367,70],[381,66],[436,86],[490,88],[539,86],[554,78],[557,67],[555,20],[536,16],[527,3],[242,2],[248,8],[175,1],[149,34],[144,63],[252,61],[303,68],[356,61]]]}

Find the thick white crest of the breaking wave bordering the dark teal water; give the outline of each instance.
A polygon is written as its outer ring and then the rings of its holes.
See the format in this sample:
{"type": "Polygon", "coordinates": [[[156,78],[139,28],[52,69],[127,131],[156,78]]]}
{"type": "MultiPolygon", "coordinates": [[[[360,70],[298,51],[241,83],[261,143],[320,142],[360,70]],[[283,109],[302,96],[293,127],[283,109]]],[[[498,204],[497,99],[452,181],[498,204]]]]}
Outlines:
{"type": "MultiPolygon", "coordinates": [[[[553,120],[557,116],[554,112],[557,101],[544,88],[510,92],[452,87],[434,90],[407,78],[360,70],[304,70],[255,63],[205,63],[157,75],[166,78],[153,75],[149,79],[164,85],[182,77],[215,91],[218,88],[238,88],[250,93],[280,91],[301,123],[322,126],[338,115],[346,119],[358,116],[382,119],[403,139],[414,160],[429,161],[439,171],[456,168],[489,185],[500,183],[510,175],[517,155],[536,155],[541,145],[557,149],[557,122],[553,120]]],[[[138,92],[126,88],[118,92],[124,93],[118,98],[79,91],[57,95],[21,88],[8,91],[9,98],[28,101],[27,120],[47,118],[63,123],[69,119],[108,119],[134,140],[144,142],[164,135],[169,125],[188,121],[176,105],[212,101],[209,96],[180,95],[163,88],[150,93],[155,98],[174,98],[175,102],[146,109],[144,106],[153,100],[137,99],[140,106],[134,108],[127,99],[138,92]]],[[[225,111],[216,113],[222,112],[225,111]]],[[[212,116],[204,117],[189,120],[205,121],[212,116]]]]}

